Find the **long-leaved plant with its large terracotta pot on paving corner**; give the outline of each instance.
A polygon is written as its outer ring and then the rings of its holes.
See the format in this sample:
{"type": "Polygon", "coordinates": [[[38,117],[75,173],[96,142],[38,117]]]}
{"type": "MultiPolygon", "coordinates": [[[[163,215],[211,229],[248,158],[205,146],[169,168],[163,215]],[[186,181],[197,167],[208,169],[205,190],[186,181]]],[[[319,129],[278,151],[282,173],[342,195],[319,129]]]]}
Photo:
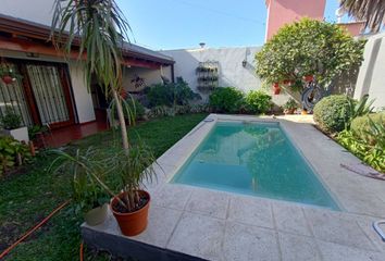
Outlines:
{"type": "Polygon", "coordinates": [[[111,211],[122,234],[135,236],[147,227],[150,195],[142,189],[144,182],[154,176],[151,150],[144,144],[129,148],[128,154],[117,150],[111,159],[112,172],[117,175],[122,191],[111,201],[111,211]]]}

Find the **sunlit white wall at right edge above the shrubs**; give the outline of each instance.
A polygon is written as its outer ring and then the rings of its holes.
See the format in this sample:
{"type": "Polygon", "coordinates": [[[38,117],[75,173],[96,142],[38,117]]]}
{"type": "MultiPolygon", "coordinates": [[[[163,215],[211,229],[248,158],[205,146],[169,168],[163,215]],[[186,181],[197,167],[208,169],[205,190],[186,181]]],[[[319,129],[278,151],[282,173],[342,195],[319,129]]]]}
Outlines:
{"type": "Polygon", "coordinates": [[[385,33],[371,36],[365,45],[364,60],[357,79],[355,98],[369,95],[373,105],[385,107],[385,33]]]}

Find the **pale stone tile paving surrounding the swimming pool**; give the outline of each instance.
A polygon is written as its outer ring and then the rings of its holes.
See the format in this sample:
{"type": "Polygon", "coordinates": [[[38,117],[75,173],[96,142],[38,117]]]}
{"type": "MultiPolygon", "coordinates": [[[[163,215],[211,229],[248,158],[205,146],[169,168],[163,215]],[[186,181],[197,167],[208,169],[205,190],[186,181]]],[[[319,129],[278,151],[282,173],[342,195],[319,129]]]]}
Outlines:
{"type": "Polygon", "coordinates": [[[141,235],[122,236],[110,213],[101,225],[84,224],[84,239],[108,248],[102,235],[109,235],[116,241],[114,247],[131,244],[133,248],[136,243],[140,249],[154,246],[210,260],[247,260],[253,254],[266,260],[307,254],[319,260],[351,260],[351,256],[382,260],[385,243],[372,229],[372,222],[385,216],[385,186],[340,167],[339,163],[360,162],[356,157],[311,124],[249,115],[210,114],[207,119],[214,121],[199,123],[153,166],[158,183],[147,184],[152,200],[149,227],[141,235]],[[280,122],[343,211],[169,183],[216,121],[234,120],[280,122]]]}

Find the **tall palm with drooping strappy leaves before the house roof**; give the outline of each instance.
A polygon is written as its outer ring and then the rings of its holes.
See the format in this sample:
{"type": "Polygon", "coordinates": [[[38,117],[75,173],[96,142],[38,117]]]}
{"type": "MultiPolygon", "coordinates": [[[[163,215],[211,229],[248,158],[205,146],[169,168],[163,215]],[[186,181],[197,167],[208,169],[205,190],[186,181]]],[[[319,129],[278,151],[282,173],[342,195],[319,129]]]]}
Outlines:
{"type": "MultiPolygon", "coordinates": [[[[70,59],[74,46],[84,65],[89,88],[91,77],[103,86],[107,97],[116,107],[123,148],[128,152],[126,123],[120,96],[122,90],[122,53],[124,37],[129,25],[114,0],[55,0],[51,26],[53,45],[70,59]]],[[[129,115],[131,113],[128,113],[129,115]]]]}

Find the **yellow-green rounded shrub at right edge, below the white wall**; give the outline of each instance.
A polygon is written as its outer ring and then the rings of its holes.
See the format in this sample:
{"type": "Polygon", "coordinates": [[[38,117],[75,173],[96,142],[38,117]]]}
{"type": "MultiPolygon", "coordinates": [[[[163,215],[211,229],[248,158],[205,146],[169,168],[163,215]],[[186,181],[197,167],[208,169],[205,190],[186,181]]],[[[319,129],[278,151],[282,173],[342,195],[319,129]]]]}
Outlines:
{"type": "Polygon", "coordinates": [[[350,129],[358,138],[374,146],[377,142],[377,137],[371,133],[372,125],[370,120],[372,120],[374,124],[385,126],[385,112],[356,117],[351,122],[350,129]]]}

